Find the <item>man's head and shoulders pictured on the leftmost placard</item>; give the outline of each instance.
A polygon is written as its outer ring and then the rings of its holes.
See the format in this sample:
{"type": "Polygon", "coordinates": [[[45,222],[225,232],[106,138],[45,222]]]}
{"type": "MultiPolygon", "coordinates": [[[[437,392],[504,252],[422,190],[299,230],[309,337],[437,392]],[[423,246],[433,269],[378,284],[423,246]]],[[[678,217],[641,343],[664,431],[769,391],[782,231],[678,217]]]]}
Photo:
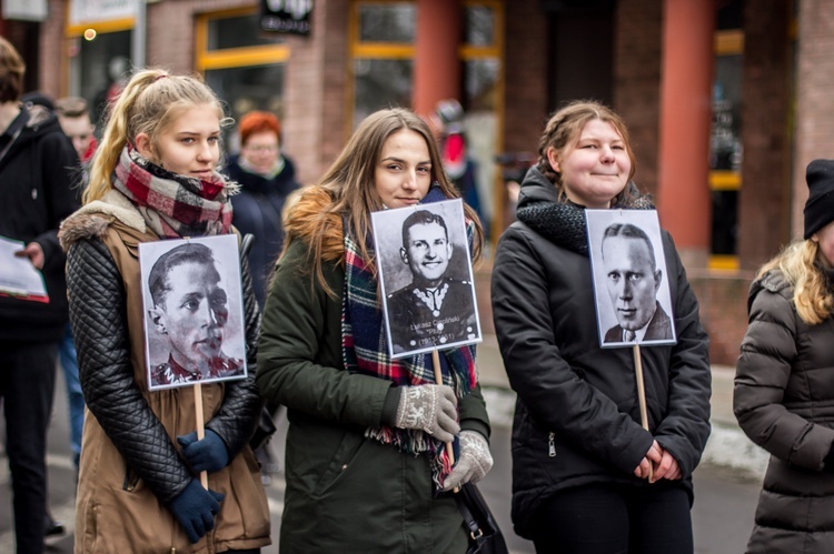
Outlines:
{"type": "Polygon", "coordinates": [[[167,339],[168,355],[150,366],[150,387],[246,374],[244,360],[224,352],[229,298],[221,281],[212,250],[199,242],[185,242],[156,260],[148,276],[147,326],[167,339]]]}

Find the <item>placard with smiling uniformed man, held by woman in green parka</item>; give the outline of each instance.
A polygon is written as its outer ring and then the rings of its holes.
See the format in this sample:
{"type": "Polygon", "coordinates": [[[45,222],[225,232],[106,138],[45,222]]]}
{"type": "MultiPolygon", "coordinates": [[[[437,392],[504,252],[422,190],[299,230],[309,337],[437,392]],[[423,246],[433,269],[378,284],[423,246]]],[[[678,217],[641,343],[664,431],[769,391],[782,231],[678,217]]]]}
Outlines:
{"type": "Polygon", "coordinates": [[[371,214],[388,352],[480,342],[463,200],[371,214]]]}

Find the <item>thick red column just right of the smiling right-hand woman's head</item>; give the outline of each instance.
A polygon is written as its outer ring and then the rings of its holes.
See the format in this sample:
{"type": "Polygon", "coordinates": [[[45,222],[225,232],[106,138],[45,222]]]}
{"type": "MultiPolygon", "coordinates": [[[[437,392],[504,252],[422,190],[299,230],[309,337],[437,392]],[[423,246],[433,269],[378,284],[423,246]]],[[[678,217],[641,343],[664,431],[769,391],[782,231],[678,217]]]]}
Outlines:
{"type": "Polygon", "coordinates": [[[709,250],[709,120],[715,6],[665,0],[657,209],[678,249],[709,250]]]}

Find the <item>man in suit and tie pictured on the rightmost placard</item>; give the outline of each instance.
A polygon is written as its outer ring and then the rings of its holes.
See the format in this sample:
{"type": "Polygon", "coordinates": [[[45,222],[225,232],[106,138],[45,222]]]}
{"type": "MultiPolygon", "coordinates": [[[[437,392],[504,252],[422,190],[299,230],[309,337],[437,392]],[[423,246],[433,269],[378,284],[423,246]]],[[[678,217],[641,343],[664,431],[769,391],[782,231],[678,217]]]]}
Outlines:
{"type": "Polygon", "coordinates": [[[605,284],[617,324],[606,343],[642,343],[674,339],[672,320],[657,301],[663,270],[648,235],[632,223],[613,223],[603,233],[605,284]]]}

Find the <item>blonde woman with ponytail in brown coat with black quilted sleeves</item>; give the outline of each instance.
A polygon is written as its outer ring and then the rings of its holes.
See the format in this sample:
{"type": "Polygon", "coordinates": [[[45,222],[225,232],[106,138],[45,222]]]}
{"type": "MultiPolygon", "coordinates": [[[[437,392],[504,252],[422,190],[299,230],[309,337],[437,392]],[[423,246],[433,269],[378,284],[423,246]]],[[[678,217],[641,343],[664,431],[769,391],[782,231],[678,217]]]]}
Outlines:
{"type": "MultiPolygon", "coordinates": [[[[234,232],[235,184],[216,172],[222,115],[201,81],[137,72],[111,107],[85,205],[61,228],[79,375],[93,415],[85,421],[76,552],[256,553],[270,543],[248,445],[262,402],[252,377],[258,306],[246,263],[250,373],[202,386],[205,439],[195,436],[193,387],[150,392],[146,374],[137,246],[234,232]]],[[[214,308],[195,293],[182,309],[214,308]]],[[[180,359],[178,371],[192,372],[198,351],[180,359]]]]}

